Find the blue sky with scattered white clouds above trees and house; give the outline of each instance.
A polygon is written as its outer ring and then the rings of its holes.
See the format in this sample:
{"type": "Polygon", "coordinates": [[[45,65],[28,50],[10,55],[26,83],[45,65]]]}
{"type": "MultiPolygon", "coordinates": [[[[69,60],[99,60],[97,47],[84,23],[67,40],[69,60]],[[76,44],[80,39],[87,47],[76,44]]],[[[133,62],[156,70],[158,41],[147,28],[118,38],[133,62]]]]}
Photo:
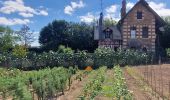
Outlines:
{"type": "MultiPolygon", "coordinates": [[[[170,16],[169,0],[146,0],[160,15],[170,16]]],[[[98,19],[101,11],[105,18],[120,19],[122,0],[0,0],[0,25],[20,30],[28,25],[34,32],[35,42],[39,46],[40,30],[53,20],[90,23],[98,19]]],[[[138,0],[127,0],[127,10],[138,0]]]]}

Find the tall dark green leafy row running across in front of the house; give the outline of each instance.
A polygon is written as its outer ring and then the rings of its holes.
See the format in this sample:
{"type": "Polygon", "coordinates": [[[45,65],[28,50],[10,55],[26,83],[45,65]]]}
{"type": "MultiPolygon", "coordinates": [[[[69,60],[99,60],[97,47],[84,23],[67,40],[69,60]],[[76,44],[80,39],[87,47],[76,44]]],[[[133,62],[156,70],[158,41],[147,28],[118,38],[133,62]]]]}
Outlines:
{"type": "Polygon", "coordinates": [[[133,50],[118,50],[98,48],[94,53],[79,52],[44,52],[42,54],[29,53],[26,58],[13,57],[10,54],[0,55],[0,65],[8,67],[24,67],[38,69],[42,66],[75,66],[84,69],[85,66],[140,65],[151,63],[150,53],[133,50]]]}

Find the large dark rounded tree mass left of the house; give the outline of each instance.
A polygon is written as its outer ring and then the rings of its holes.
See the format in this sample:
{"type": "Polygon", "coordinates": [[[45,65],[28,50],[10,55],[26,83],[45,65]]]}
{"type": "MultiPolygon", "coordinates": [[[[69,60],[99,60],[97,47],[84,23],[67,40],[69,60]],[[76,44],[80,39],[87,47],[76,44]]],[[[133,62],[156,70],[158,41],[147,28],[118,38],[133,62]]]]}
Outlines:
{"type": "Polygon", "coordinates": [[[56,50],[60,45],[73,50],[93,51],[97,42],[93,39],[93,26],[85,23],[55,20],[42,28],[39,42],[47,50],[56,50]]]}

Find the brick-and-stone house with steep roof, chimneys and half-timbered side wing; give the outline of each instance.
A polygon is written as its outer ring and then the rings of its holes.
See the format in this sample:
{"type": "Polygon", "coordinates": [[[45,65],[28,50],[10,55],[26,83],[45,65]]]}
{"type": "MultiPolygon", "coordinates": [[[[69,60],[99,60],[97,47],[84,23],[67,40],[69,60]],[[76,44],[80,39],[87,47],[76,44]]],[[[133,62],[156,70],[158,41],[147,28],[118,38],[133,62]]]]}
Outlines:
{"type": "Polygon", "coordinates": [[[159,34],[163,31],[164,20],[145,0],[139,0],[132,9],[126,11],[126,0],[122,1],[121,19],[117,25],[105,27],[100,14],[95,27],[94,39],[99,47],[113,49],[136,49],[155,52],[159,45],[159,34]]]}

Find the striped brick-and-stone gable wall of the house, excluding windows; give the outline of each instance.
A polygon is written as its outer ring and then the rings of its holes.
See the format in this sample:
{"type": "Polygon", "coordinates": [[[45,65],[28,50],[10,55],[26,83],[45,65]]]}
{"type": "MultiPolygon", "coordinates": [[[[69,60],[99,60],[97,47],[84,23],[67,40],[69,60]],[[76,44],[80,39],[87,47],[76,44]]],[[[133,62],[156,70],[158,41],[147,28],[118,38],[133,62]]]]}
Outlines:
{"type": "MultiPolygon", "coordinates": [[[[146,47],[148,51],[155,51],[155,17],[142,4],[136,6],[124,19],[122,25],[123,48],[128,48],[131,39],[130,28],[136,27],[136,39],[146,47]],[[137,11],[142,11],[142,19],[137,19],[137,11]],[[148,27],[148,38],[142,38],[142,28],[148,27]]],[[[142,48],[141,47],[141,48],[142,48]]]]}

